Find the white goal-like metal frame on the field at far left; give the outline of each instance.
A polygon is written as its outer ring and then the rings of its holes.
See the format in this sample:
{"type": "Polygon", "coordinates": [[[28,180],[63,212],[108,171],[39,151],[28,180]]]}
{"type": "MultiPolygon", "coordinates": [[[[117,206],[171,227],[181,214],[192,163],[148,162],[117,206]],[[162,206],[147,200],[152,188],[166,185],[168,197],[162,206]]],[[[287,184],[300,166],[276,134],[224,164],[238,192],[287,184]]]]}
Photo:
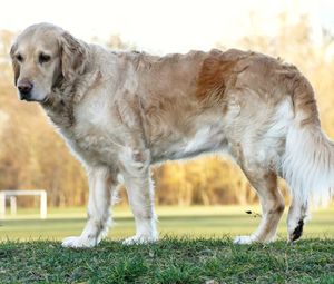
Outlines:
{"type": "Polygon", "coordinates": [[[40,196],[40,218],[47,218],[47,192],[42,189],[36,190],[0,190],[0,218],[6,217],[6,197],[9,197],[10,213],[16,215],[17,213],[17,196],[32,195],[40,196]]]}

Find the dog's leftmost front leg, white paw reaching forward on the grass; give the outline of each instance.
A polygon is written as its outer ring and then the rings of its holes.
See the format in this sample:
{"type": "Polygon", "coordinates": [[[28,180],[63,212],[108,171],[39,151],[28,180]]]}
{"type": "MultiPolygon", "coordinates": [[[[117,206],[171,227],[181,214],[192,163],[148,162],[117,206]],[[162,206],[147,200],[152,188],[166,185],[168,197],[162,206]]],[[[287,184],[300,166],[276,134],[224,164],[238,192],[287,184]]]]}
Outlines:
{"type": "Polygon", "coordinates": [[[63,247],[94,247],[108,233],[111,223],[110,200],[116,188],[115,175],[106,167],[87,170],[89,179],[88,221],[80,236],[67,237],[63,247]]]}

